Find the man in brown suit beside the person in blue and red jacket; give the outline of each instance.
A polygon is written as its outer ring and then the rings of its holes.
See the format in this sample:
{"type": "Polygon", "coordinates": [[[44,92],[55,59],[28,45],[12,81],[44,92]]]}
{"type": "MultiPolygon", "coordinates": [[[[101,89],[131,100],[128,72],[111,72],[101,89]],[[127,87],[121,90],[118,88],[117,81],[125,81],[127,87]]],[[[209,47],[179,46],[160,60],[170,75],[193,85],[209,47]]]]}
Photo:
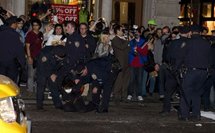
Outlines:
{"type": "Polygon", "coordinates": [[[114,55],[121,65],[121,72],[114,84],[114,98],[116,102],[125,100],[127,97],[128,83],[129,83],[129,66],[128,66],[128,52],[130,50],[129,42],[123,38],[123,28],[120,25],[115,26],[114,32],[116,36],[112,40],[112,47],[114,55]]]}

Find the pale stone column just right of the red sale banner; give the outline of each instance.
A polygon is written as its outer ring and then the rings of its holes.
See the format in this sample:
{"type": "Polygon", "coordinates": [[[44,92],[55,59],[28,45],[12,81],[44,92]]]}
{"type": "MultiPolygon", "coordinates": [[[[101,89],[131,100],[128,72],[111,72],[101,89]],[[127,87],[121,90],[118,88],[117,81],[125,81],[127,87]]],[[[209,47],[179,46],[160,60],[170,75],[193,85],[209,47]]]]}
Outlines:
{"type": "Polygon", "coordinates": [[[109,23],[112,20],[112,0],[102,0],[102,14],[109,23]]]}

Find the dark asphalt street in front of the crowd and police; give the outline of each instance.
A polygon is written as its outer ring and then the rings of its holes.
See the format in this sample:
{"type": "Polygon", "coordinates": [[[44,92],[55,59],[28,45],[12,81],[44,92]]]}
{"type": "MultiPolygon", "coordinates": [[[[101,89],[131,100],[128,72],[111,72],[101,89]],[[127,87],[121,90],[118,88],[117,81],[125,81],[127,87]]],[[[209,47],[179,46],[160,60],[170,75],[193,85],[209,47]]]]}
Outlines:
{"type": "MultiPolygon", "coordinates": [[[[25,95],[26,96],[26,95],[25,95]]],[[[110,103],[108,113],[64,112],[45,100],[44,111],[35,107],[35,97],[24,97],[27,115],[32,120],[33,133],[213,133],[215,121],[181,122],[173,110],[162,117],[158,96],[146,97],[143,103],[110,103]]]]}

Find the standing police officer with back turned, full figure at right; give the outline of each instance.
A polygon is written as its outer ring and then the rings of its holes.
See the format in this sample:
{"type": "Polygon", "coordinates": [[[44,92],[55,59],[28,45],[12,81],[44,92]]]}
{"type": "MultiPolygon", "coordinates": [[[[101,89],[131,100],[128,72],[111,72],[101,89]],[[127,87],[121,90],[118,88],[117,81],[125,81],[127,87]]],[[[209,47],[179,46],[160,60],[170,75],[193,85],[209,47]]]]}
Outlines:
{"type": "Polygon", "coordinates": [[[200,120],[201,95],[209,68],[210,43],[200,35],[199,26],[193,25],[191,31],[192,37],[186,42],[184,65],[187,72],[182,83],[184,95],[181,97],[179,114],[179,120],[185,121],[200,120]]]}

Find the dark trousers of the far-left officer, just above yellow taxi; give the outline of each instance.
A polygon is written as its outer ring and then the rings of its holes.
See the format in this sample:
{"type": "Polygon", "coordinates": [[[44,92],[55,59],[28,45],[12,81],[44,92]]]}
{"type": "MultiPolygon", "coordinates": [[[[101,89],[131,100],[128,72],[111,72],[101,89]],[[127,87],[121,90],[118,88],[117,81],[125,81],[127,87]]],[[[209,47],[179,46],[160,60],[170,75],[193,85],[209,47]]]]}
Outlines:
{"type": "Polygon", "coordinates": [[[5,75],[17,83],[18,78],[18,66],[14,61],[1,61],[0,62],[0,74],[5,75]]]}

